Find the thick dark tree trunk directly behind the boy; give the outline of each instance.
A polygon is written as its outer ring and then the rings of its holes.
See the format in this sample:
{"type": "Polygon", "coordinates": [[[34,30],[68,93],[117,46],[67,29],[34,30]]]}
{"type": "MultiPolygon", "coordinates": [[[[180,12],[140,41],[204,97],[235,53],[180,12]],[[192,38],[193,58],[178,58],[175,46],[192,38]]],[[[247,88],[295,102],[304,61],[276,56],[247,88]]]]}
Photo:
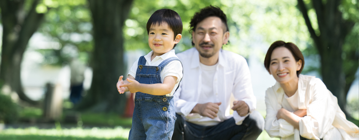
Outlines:
{"type": "Polygon", "coordinates": [[[97,112],[123,113],[125,94],[116,88],[118,77],[125,74],[122,25],[132,0],[89,0],[93,18],[94,51],[91,58],[93,79],[88,96],[78,109],[91,107],[97,112]]]}

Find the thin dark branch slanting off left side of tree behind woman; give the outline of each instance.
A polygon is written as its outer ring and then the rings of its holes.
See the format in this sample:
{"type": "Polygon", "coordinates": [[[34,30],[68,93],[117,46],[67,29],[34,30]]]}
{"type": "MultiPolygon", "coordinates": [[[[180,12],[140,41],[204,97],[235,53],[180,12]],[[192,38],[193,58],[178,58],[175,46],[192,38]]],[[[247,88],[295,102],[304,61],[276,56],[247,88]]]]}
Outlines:
{"type": "MultiPolygon", "coordinates": [[[[306,25],[308,27],[308,31],[311,34],[312,39],[314,40],[315,44],[320,44],[320,40],[319,37],[315,34],[315,31],[313,29],[313,26],[311,24],[311,20],[309,19],[308,16],[308,10],[306,8],[306,5],[304,4],[303,0],[298,0],[298,9],[300,12],[302,12],[303,18],[306,21],[306,25]]],[[[322,48],[320,48],[319,45],[316,45],[319,52],[321,52],[322,48]]]]}

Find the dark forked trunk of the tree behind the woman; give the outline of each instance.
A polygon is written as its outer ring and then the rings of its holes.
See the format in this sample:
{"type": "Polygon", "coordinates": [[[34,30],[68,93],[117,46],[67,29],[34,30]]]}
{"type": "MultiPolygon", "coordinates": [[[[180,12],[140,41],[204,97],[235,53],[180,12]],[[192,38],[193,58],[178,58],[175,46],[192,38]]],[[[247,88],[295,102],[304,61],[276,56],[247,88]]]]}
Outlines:
{"type": "MultiPolygon", "coordinates": [[[[346,112],[346,76],[354,74],[345,74],[343,71],[342,46],[346,36],[354,26],[354,22],[342,19],[342,13],[338,6],[341,0],[327,0],[325,4],[321,0],[312,0],[316,10],[318,27],[320,34],[317,35],[312,28],[309,20],[307,8],[303,0],[298,0],[298,9],[302,12],[306,21],[311,38],[314,40],[316,48],[321,56],[321,71],[324,84],[338,99],[341,110],[347,117],[351,116],[346,112]]],[[[354,67],[353,69],[357,69],[354,67]]],[[[354,79],[353,79],[354,80],[354,79]]],[[[350,81],[349,82],[353,82],[350,81]]],[[[349,83],[348,83],[349,84],[349,83]]]]}

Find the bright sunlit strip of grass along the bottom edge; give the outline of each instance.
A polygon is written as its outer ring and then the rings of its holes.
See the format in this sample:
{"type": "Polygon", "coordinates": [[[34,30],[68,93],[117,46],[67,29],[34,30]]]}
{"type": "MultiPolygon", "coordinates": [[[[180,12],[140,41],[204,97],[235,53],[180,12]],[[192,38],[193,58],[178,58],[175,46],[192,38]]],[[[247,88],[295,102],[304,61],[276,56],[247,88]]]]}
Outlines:
{"type": "MultiPolygon", "coordinates": [[[[29,127],[26,129],[5,129],[0,131],[0,140],[127,140],[130,129],[116,127],[82,129],[38,129],[29,127]]],[[[257,140],[279,140],[271,138],[266,131],[257,140]]]]}

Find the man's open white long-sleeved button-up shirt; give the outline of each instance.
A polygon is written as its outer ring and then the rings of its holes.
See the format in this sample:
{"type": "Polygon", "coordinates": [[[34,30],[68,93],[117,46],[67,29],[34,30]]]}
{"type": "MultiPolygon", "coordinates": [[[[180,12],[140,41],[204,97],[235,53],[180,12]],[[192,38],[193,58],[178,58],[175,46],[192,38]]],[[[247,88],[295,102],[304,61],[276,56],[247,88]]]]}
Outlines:
{"type": "MultiPolygon", "coordinates": [[[[256,109],[256,97],[253,95],[251,75],[246,59],[241,55],[230,51],[220,50],[219,59],[215,66],[213,76],[213,96],[207,97],[208,102],[222,102],[219,106],[217,117],[211,119],[197,113],[190,113],[194,106],[199,103],[206,103],[202,93],[202,85],[209,81],[202,81],[202,73],[199,61],[199,53],[195,48],[188,49],[177,54],[182,61],[184,77],[176,94],[174,94],[174,106],[176,113],[185,117],[186,121],[211,126],[233,116],[237,125],[241,125],[248,116],[239,116],[237,111],[230,115],[230,95],[233,93],[235,100],[242,100],[248,105],[250,112],[256,109]]],[[[202,66],[203,67],[203,66],[202,66]]],[[[211,78],[212,79],[212,78],[211,78]]],[[[210,91],[210,90],[209,90],[210,91]]]]}

